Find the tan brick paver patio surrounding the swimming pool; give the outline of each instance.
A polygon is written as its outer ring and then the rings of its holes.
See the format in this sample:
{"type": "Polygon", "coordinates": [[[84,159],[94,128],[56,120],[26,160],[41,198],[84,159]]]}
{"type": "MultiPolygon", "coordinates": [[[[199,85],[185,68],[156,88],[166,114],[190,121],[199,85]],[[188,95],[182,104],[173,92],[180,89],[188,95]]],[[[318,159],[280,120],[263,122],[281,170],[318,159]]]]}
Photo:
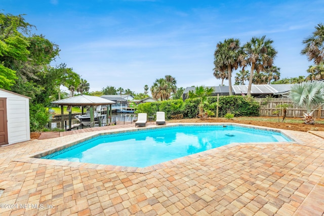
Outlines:
{"type": "Polygon", "coordinates": [[[296,142],[220,147],[144,173],[28,158],[100,132],[1,147],[0,215],[324,215],[324,139],[282,131],[296,142]]]}

